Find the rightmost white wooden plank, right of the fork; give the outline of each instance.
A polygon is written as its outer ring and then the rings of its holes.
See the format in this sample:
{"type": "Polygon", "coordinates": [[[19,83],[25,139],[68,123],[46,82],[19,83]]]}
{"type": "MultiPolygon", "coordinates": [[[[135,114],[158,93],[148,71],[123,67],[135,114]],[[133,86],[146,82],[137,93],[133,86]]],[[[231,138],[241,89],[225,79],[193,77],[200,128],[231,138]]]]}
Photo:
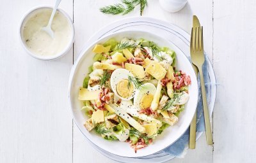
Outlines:
{"type": "Polygon", "coordinates": [[[214,0],[214,162],[256,162],[256,1],[214,0]]]}

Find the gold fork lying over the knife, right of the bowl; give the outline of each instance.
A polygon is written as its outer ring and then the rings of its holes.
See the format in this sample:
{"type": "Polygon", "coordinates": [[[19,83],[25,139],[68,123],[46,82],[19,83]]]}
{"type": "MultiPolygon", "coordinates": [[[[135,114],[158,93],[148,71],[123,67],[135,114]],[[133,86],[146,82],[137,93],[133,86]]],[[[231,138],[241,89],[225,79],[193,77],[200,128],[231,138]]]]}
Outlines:
{"type": "Polygon", "coordinates": [[[205,92],[205,84],[204,84],[204,76],[202,71],[202,66],[205,62],[204,59],[204,41],[203,41],[203,27],[193,27],[192,29],[192,45],[191,45],[191,61],[198,68],[200,74],[201,81],[201,90],[202,90],[202,99],[204,106],[204,122],[205,122],[205,133],[206,133],[206,141],[207,145],[212,145],[212,131],[211,131],[211,123],[209,118],[209,110],[206,99],[205,92]]]}

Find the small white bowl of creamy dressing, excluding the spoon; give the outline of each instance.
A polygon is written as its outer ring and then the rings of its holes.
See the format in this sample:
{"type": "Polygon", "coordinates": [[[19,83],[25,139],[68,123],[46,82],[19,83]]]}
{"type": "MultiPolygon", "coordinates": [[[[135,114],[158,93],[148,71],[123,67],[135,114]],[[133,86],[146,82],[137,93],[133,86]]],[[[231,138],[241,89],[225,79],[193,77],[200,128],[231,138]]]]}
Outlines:
{"type": "Polygon", "coordinates": [[[20,40],[26,52],[42,60],[58,59],[67,53],[74,42],[74,25],[65,11],[58,9],[52,20],[54,38],[42,30],[51,17],[52,8],[41,6],[28,11],[20,24],[20,40]]]}

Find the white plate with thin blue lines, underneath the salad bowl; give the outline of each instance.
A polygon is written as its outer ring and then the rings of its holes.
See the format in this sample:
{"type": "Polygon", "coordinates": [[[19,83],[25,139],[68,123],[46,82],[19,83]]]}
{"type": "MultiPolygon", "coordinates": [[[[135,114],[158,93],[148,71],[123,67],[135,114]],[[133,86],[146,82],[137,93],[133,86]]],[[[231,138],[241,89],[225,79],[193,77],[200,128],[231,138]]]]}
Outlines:
{"type": "MultiPolygon", "coordinates": [[[[189,57],[189,40],[190,35],[188,32],[180,29],[174,24],[170,24],[168,22],[164,22],[162,20],[157,20],[155,18],[148,18],[148,17],[133,17],[133,18],[125,18],[122,20],[118,20],[112,24],[107,25],[106,27],[100,29],[92,38],[90,38],[84,45],[84,47],[92,44],[97,39],[100,39],[108,34],[111,34],[116,31],[126,31],[126,30],[136,30],[136,29],[143,29],[144,31],[154,31],[155,34],[168,39],[177,47],[179,47],[182,52],[189,57]]],[[[208,90],[210,95],[209,99],[209,113],[212,115],[212,111],[214,108],[215,98],[216,98],[216,78],[214,71],[211,66],[211,62],[209,58],[206,59],[208,62],[208,71],[209,71],[209,78],[211,81],[211,87],[208,90]]],[[[196,132],[196,139],[199,139],[202,135],[202,132],[196,132]]],[[[168,160],[173,159],[175,156],[169,155],[164,151],[154,153],[152,155],[148,155],[147,157],[139,157],[139,158],[129,158],[129,157],[120,157],[118,155],[113,155],[109,152],[106,152],[99,147],[95,146],[89,139],[87,139],[92,146],[98,150],[102,155],[105,155],[109,159],[116,160],[118,162],[140,162],[140,163],[147,163],[147,162],[166,162],[168,160]]]]}

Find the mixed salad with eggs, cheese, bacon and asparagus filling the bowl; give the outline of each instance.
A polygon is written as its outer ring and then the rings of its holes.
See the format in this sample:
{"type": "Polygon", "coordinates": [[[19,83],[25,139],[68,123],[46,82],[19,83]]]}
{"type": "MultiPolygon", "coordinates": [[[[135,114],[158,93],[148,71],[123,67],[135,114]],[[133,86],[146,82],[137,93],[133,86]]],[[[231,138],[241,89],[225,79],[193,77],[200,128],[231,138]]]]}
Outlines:
{"type": "Polygon", "coordinates": [[[191,79],[175,69],[173,50],[145,39],[112,38],[93,52],[78,97],[88,131],[128,142],[137,152],[177,123],[191,79]]]}

